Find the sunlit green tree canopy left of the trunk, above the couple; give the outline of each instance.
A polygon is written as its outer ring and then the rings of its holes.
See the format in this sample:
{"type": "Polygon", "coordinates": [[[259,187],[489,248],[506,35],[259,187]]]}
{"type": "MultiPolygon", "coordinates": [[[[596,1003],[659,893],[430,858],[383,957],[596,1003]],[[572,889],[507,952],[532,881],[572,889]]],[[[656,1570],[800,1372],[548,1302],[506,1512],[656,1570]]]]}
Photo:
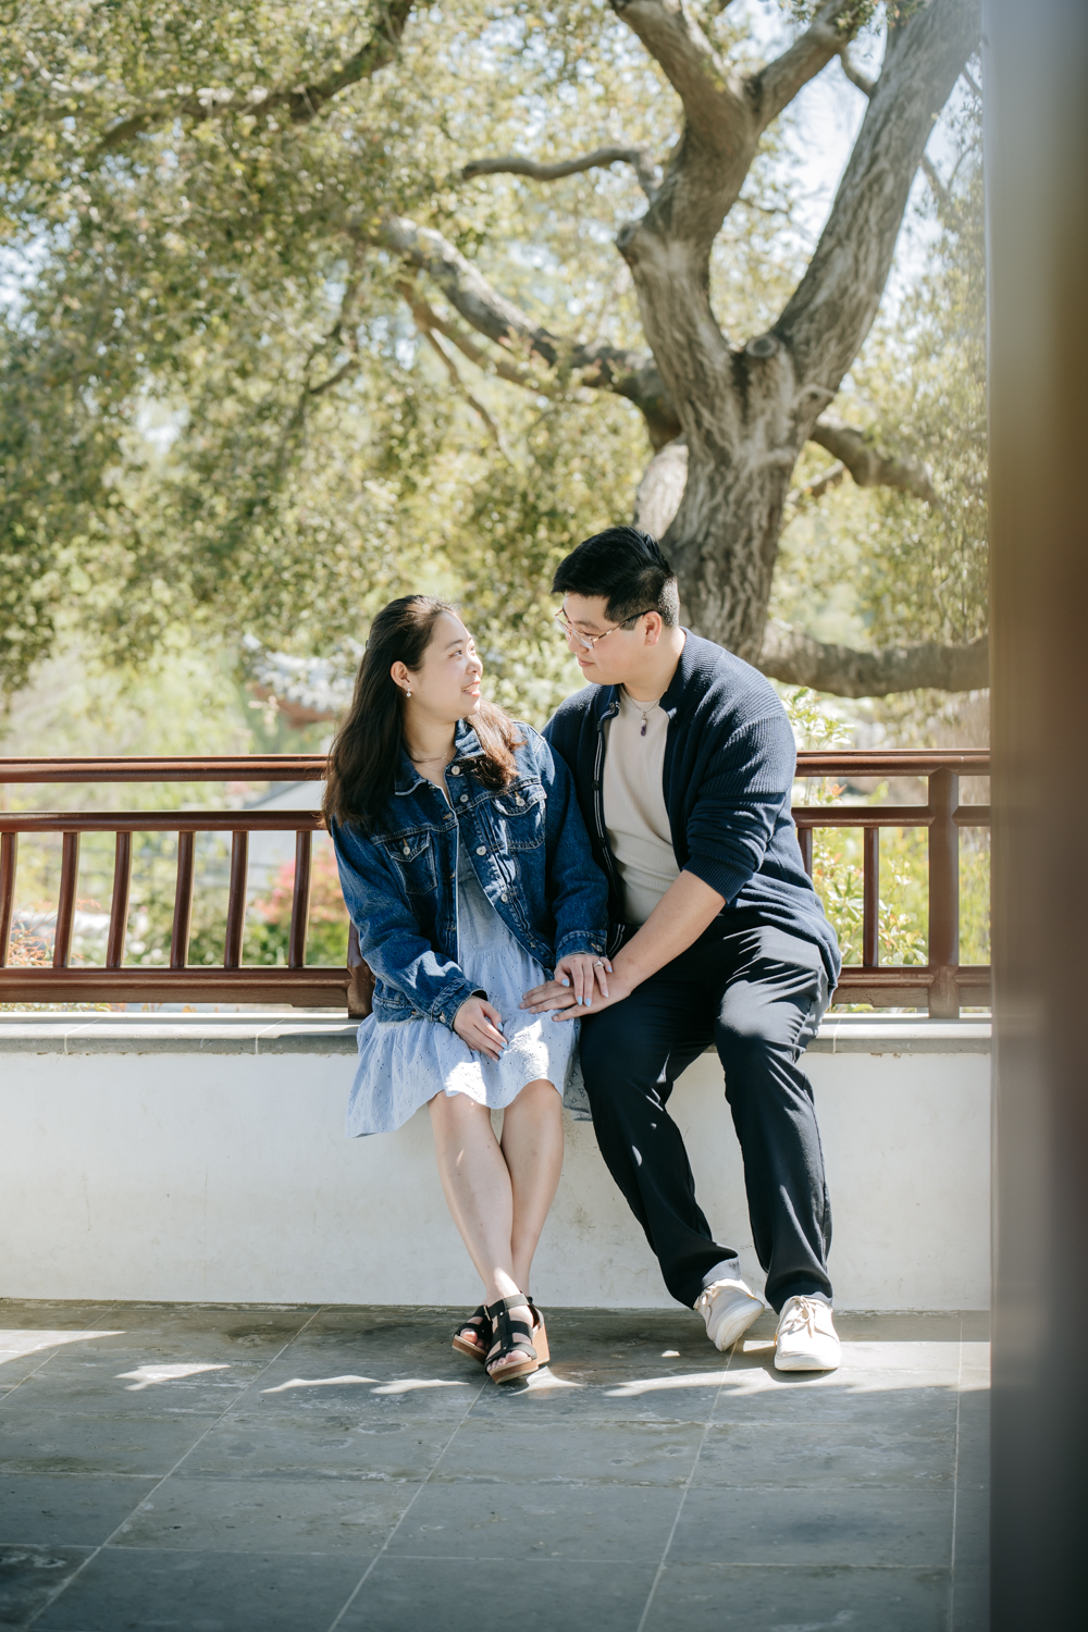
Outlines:
{"type": "MultiPolygon", "coordinates": [[[[18,8],[0,42],[18,286],[0,331],[0,685],[70,628],[127,664],[179,627],[326,653],[421,584],[483,619],[515,708],[540,718],[566,687],[533,574],[630,514],[641,419],[563,379],[525,392],[449,341],[439,359],[401,264],[362,238],[411,214],[556,333],[638,344],[613,248],[644,207],[630,168],[550,186],[460,170],[525,147],[666,155],[679,104],[630,29],[581,0],[416,10],[398,59],[316,118],[276,103],[380,20],[347,0],[18,8]]],[[[796,273],[780,144],[718,248],[732,331],[763,326],[796,273]]]]}

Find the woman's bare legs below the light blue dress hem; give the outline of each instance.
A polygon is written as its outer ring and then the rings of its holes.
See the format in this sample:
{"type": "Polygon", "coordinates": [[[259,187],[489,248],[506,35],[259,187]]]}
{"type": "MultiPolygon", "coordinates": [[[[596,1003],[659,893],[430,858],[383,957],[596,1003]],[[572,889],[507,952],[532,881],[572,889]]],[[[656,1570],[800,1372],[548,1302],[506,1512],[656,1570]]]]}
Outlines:
{"type": "MultiPolygon", "coordinates": [[[[506,1108],[502,1144],[494,1138],[489,1110],[467,1093],[436,1093],[429,1110],[445,1201],[484,1284],[484,1302],[512,1297],[529,1288],[533,1252],[559,1183],[559,1095],[545,1080],[522,1089],[506,1108]]],[[[512,1314],[532,1325],[527,1306],[512,1314]]]]}

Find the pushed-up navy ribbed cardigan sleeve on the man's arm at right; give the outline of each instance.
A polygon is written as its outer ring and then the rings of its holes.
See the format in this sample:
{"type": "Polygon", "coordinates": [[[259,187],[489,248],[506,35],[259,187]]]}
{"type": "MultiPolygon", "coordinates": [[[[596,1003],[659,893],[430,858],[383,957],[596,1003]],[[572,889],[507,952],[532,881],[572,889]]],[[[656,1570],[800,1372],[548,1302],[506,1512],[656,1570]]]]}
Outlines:
{"type": "Polygon", "coordinates": [[[789,800],[796,746],[781,716],[755,720],[714,754],[688,818],[688,858],[695,873],[726,902],[736,901],[763,865],[775,823],[789,800]]]}

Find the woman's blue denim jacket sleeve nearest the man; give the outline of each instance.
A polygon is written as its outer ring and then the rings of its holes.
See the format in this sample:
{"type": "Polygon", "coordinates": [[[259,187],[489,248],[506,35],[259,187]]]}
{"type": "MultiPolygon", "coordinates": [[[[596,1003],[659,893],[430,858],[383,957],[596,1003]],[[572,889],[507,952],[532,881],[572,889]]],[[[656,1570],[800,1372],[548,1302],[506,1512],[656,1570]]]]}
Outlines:
{"type": "Polygon", "coordinates": [[[555,955],[592,951],[604,958],[608,943],[608,883],[594,862],[589,834],[574,796],[566,762],[535,736],[537,769],[548,803],[545,854],[548,906],[555,917],[555,955]]]}

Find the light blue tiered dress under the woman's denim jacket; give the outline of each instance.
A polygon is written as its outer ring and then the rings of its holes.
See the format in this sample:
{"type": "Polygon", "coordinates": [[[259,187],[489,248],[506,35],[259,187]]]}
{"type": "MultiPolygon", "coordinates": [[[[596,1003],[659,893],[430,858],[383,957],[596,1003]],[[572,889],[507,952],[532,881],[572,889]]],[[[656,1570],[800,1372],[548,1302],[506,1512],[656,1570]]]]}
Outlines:
{"type": "Polygon", "coordinates": [[[437,1020],[367,1015],[359,1027],[359,1069],[347,1095],[349,1138],[391,1133],[442,1090],[501,1110],[538,1079],[555,1084],[577,1120],[589,1116],[577,1071],[579,1022],[519,1007],[546,973],[488,901],[465,844],[457,847],[457,961],[502,1015],[502,1056],[475,1053],[437,1020]]]}

